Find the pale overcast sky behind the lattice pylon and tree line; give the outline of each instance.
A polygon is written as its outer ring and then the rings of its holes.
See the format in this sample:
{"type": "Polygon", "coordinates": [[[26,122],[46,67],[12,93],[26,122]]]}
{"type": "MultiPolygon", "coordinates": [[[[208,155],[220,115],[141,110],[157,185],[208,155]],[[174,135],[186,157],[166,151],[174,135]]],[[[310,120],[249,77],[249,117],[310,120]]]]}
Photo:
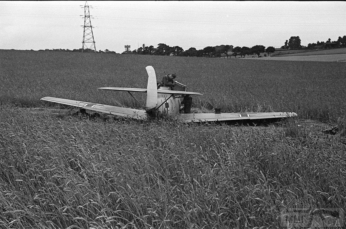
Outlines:
{"type": "MultiPolygon", "coordinates": [[[[0,1],[0,49],[82,47],[85,1],[0,1]],[[81,6],[82,5],[82,6],[81,6]],[[80,16],[82,15],[82,16],[80,16]]],[[[88,1],[97,50],[281,47],[346,35],[346,2],[88,1]]]]}

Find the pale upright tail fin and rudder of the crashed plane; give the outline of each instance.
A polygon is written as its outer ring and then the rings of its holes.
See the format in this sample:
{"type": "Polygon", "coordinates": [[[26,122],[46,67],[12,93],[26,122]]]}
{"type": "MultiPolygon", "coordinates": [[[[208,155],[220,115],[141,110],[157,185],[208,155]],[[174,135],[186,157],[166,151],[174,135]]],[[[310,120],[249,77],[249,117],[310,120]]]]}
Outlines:
{"type": "Polygon", "coordinates": [[[148,73],[147,100],[145,111],[149,112],[157,105],[157,84],[156,74],[153,66],[147,66],[145,69],[148,73]]]}

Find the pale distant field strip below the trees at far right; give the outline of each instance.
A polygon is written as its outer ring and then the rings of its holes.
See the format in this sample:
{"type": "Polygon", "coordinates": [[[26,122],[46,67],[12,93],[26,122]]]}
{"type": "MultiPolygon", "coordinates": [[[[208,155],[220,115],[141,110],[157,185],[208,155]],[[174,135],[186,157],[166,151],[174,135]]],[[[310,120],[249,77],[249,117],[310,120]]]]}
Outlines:
{"type": "MultiPolygon", "coordinates": [[[[314,53],[314,52],[311,52],[314,53]]],[[[306,53],[304,53],[306,54],[306,53]]],[[[307,54],[306,54],[307,55],[307,54]]],[[[248,58],[247,58],[248,59],[248,58]]],[[[275,57],[262,57],[257,58],[258,60],[290,60],[290,61],[323,61],[323,62],[346,62],[346,54],[328,54],[328,55],[280,55],[275,57]]]]}

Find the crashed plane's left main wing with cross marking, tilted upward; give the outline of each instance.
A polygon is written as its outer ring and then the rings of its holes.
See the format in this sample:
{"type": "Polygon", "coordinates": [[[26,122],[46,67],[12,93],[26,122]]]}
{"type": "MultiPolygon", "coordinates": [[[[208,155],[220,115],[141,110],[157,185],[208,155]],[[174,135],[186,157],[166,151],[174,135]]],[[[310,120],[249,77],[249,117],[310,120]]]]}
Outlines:
{"type": "Polygon", "coordinates": [[[53,102],[53,103],[65,104],[69,106],[80,107],[83,109],[103,112],[103,113],[112,114],[112,115],[135,118],[139,120],[144,120],[147,118],[147,113],[144,110],[81,102],[81,101],[75,101],[71,99],[54,98],[54,97],[43,97],[41,98],[41,100],[53,102]]]}

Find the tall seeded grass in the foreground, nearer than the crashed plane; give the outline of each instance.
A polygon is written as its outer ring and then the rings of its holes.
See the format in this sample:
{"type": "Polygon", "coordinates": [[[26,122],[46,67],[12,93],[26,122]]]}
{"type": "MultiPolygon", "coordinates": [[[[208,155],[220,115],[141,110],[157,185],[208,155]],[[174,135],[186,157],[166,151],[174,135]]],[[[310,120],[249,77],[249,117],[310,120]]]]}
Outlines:
{"type": "Polygon", "coordinates": [[[346,204],[339,136],[7,106],[0,123],[1,227],[277,228],[346,204]]]}

